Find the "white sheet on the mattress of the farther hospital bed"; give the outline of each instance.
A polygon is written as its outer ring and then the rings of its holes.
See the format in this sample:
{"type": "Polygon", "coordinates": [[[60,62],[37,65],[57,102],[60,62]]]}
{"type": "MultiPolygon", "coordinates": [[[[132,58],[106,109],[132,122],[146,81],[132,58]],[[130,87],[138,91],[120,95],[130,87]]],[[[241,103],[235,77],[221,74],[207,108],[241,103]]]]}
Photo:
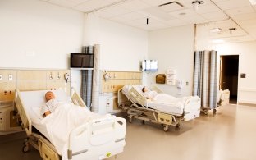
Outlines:
{"type": "MultiPolygon", "coordinates": [[[[129,91],[131,87],[134,87],[140,94],[142,94],[142,88],[144,87],[144,85],[125,85],[122,91],[129,96],[129,91]]],[[[171,96],[171,95],[168,95],[168,96],[171,96]]],[[[176,99],[180,103],[159,103],[158,100],[156,101],[148,100],[147,103],[144,104],[144,106],[151,107],[161,112],[170,112],[172,114],[181,115],[184,111],[185,98],[176,98],[176,99]]],[[[136,102],[135,98],[132,98],[131,100],[136,102]]]]}

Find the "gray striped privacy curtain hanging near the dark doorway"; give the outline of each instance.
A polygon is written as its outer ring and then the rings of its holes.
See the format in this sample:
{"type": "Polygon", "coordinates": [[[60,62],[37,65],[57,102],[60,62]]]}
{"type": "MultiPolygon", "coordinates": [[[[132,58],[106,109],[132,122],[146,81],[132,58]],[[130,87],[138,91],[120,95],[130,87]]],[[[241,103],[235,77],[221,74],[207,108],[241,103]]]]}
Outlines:
{"type": "Polygon", "coordinates": [[[193,95],[201,98],[201,107],[217,107],[217,51],[194,52],[193,95]]]}

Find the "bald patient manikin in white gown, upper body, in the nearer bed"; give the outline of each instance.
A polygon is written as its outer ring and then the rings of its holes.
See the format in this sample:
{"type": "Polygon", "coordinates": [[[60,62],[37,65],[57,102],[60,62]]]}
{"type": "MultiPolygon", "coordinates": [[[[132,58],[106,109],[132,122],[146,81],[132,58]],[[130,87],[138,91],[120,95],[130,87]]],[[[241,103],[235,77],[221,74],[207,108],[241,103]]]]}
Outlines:
{"type": "Polygon", "coordinates": [[[43,117],[46,117],[49,114],[51,114],[52,112],[54,112],[58,106],[57,99],[55,99],[55,95],[53,94],[53,92],[48,91],[45,94],[45,99],[46,99],[47,103],[45,103],[45,105],[43,105],[41,108],[41,115],[43,117]]]}

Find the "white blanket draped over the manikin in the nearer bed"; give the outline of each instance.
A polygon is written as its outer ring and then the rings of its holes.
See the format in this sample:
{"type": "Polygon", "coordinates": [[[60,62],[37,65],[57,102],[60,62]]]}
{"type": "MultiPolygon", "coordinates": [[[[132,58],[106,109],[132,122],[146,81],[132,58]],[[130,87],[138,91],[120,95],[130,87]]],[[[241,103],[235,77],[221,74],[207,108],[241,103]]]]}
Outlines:
{"type": "Polygon", "coordinates": [[[100,115],[90,112],[87,107],[62,103],[55,112],[44,117],[41,123],[46,126],[49,140],[57,149],[57,153],[62,155],[64,149],[66,149],[71,130],[95,117],[100,117],[100,115]]]}

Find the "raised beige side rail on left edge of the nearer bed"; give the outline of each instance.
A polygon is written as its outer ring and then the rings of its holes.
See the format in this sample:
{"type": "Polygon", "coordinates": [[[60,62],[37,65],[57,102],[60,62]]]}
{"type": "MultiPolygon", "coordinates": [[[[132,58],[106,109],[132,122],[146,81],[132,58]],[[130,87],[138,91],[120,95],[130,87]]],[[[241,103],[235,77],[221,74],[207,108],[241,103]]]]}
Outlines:
{"type": "Polygon", "coordinates": [[[26,134],[30,136],[32,134],[32,123],[29,114],[24,109],[19,89],[16,89],[16,107],[21,117],[21,126],[25,130],[26,134]]]}

